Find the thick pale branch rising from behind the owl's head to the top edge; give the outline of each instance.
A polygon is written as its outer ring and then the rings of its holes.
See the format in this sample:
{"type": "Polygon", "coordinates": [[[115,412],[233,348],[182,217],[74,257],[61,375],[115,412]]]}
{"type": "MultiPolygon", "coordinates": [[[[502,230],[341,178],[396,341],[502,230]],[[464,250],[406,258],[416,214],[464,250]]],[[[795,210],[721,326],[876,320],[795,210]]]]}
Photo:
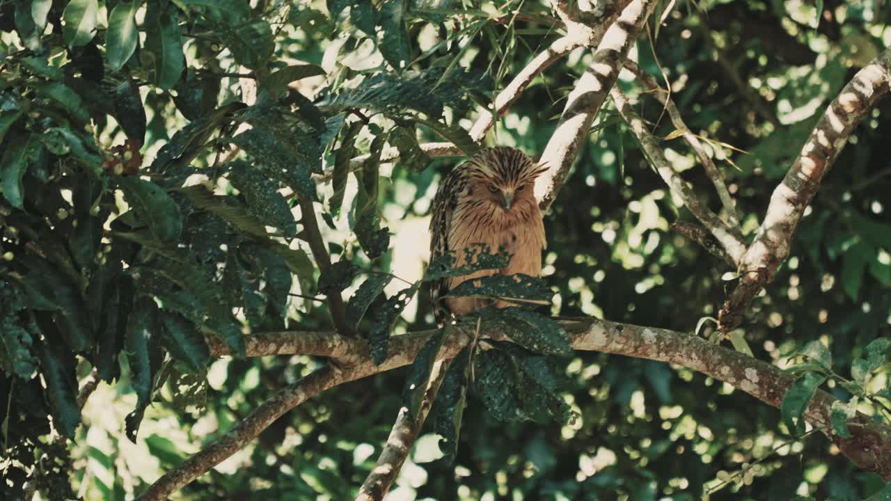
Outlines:
{"type": "Polygon", "coordinates": [[[655,6],[654,0],[634,0],[625,7],[604,34],[591,66],[569,93],[560,123],[542,154],[541,161],[548,170],[535,180],[535,199],[542,210],[550,208],[557,198],[594,117],[616,82],[628,50],[655,6]]]}

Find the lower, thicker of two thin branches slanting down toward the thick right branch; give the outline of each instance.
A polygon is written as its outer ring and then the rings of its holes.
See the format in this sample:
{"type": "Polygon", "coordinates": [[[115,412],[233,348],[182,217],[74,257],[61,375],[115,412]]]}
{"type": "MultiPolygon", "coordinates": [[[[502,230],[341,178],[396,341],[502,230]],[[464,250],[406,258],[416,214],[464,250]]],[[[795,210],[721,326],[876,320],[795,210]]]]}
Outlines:
{"type": "Polygon", "coordinates": [[[659,140],[647,131],[643,119],[632,109],[625,94],[622,94],[622,91],[617,87],[613,87],[610,95],[612,95],[613,101],[616,103],[618,112],[628,122],[632,131],[634,131],[634,136],[637,136],[643,152],[646,153],[647,158],[653,167],[656,168],[659,176],[662,177],[662,180],[665,181],[671,192],[683,201],[687,209],[690,209],[693,215],[706,226],[708,231],[715,235],[718,242],[721,242],[723,250],[739,267],[742,255],[746,253],[746,242],[743,242],[739,228],[733,228],[723,222],[711,209],[708,209],[705,201],[699,200],[699,196],[693,192],[687,185],[687,182],[683,180],[683,177],[674,170],[671,162],[666,159],[665,153],[659,146],[659,140]]]}

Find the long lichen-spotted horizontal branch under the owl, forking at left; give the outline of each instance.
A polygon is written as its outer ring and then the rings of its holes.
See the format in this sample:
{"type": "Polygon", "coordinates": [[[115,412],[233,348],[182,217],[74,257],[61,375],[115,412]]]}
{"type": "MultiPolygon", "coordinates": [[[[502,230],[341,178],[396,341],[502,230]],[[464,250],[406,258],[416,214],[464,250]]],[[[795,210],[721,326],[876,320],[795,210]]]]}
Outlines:
{"type": "MultiPolygon", "coordinates": [[[[718,381],[727,382],[772,407],[780,406],[783,395],[793,381],[789,376],[782,374],[779,367],[707,342],[690,333],[633,324],[617,324],[594,318],[564,320],[561,324],[567,330],[574,349],[601,351],[682,365],[718,381]]],[[[443,341],[438,359],[448,359],[457,355],[474,339],[475,328],[476,324],[456,325],[454,332],[443,341]]],[[[436,331],[424,331],[393,337],[390,342],[389,357],[381,365],[374,365],[362,341],[338,333],[258,333],[247,336],[246,345],[250,357],[305,353],[319,356],[334,356],[340,353],[348,355],[339,360],[338,365],[325,365],[280,390],[273,398],[257,407],[233,430],[217,439],[217,442],[162,476],[143,492],[139,499],[167,499],[177,489],[181,489],[243,448],[290,408],[324,390],[411,364],[434,333],[436,331]],[[319,342],[322,339],[327,341],[327,349],[324,349],[319,342]]],[[[502,333],[485,323],[480,326],[479,337],[504,339],[502,333]]],[[[213,344],[212,349],[217,356],[231,353],[228,348],[220,344],[213,344]]],[[[831,431],[829,424],[834,401],[836,399],[828,393],[817,391],[805,412],[805,420],[814,426],[825,427],[828,438],[859,468],[879,473],[885,480],[891,480],[891,427],[876,422],[869,416],[857,415],[848,421],[848,429],[854,437],[840,439],[831,431]]]]}

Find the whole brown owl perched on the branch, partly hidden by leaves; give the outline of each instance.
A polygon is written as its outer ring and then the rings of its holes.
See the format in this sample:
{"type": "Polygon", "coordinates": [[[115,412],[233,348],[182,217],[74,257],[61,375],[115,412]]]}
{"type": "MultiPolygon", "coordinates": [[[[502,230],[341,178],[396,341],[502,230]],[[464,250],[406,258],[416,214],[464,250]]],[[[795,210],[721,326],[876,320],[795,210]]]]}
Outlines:
{"type": "Polygon", "coordinates": [[[438,300],[459,283],[497,273],[540,275],[544,222],[534,192],[535,177],[542,172],[544,168],[525,153],[498,147],[478,152],[443,179],[433,199],[430,261],[454,251],[455,266],[462,266],[463,250],[471,243],[486,243],[493,251],[503,246],[512,258],[500,270],[481,270],[434,283],[431,296],[437,324],[443,324],[449,313],[461,316],[486,306],[485,300],[474,298],[438,300]]]}

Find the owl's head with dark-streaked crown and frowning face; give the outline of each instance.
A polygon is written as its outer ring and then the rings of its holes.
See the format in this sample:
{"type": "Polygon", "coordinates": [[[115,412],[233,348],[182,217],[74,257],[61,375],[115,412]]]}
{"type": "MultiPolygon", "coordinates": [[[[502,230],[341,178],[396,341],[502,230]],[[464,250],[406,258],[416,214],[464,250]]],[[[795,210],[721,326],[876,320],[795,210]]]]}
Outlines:
{"type": "Polygon", "coordinates": [[[505,146],[481,150],[462,168],[467,169],[468,199],[504,211],[537,204],[535,177],[547,170],[526,153],[505,146]]]}

